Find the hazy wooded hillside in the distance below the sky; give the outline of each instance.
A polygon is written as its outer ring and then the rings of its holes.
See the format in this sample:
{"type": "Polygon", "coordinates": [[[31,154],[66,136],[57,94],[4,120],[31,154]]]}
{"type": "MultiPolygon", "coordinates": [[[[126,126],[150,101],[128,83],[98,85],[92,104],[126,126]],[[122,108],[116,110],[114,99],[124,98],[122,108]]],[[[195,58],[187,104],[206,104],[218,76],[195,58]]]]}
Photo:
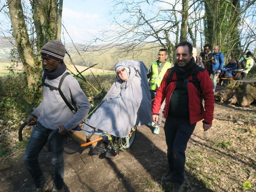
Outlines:
{"type": "MultiPolygon", "coordinates": [[[[12,48],[14,48],[14,44],[15,41],[13,38],[7,39],[0,37],[0,62],[10,62],[10,52],[12,48]]],[[[118,46],[115,46],[108,51],[93,51],[96,49],[95,46],[88,47],[84,44],[76,44],[76,47],[82,55],[81,58],[73,44],[66,43],[65,46],[75,65],[92,66],[93,64],[97,64],[94,68],[102,70],[114,70],[114,64],[116,62],[121,62],[122,60],[140,60],[149,67],[157,60],[159,50],[159,47],[156,47],[156,44],[146,44],[141,50],[134,50],[128,53],[121,52],[121,49],[118,46]],[[86,62],[87,65],[84,62],[86,62]]],[[[102,44],[97,46],[97,48],[102,47],[106,48],[108,45],[102,44]]],[[[65,56],[64,61],[67,64],[71,64],[67,55],[65,56]]]]}

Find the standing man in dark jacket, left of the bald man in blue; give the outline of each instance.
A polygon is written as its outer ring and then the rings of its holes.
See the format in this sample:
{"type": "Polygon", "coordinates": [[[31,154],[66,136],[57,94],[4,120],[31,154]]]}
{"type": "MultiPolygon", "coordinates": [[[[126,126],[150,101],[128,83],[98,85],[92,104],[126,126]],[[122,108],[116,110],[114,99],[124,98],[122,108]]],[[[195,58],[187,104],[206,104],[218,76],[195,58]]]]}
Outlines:
{"type": "Polygon", "coordinates": [[[204,64],[204,68],[209,72],[209,75],[212,74],[212,52],[211,52],[211,46],[210,44],[205,44],[204,45],[204,52],[200,53],[200,60],[204,64]]]}

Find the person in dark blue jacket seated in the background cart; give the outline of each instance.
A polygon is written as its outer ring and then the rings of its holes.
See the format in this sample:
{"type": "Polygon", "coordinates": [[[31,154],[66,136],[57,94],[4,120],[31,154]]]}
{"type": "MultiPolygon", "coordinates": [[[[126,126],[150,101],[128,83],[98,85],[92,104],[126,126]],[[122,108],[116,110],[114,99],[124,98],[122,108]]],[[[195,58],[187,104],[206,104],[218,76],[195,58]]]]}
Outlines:
{"type": "MultiPolygon", "coordinates": [[[[230,59],[230,62],[226,64],[224,68],[222,68],[222,72],[220,74],[221,78],[218,82],[218,85],[221,86],[222,78],[234,78],[234,76],[236,75],[236,72],[234,72],[233,70],[236,70],[236,69],[237,69],[236,59],[232,58],[230,59]]],[[[228,79],[224,79],[222,86],[227,86],[227,85],[228,85],[228,79]]]]}

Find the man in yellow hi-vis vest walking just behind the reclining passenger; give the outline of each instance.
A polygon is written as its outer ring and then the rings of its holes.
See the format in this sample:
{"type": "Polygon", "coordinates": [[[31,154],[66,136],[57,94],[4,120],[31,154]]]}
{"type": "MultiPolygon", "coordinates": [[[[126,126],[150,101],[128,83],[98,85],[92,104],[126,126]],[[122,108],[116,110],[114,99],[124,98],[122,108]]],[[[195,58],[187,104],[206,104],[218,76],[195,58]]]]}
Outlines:
{"type": "MultiPolygon", "coordinates": [[[[151,93],[151,99],[153,100],[156,96],[156,90],[160,86],[162,79],[164,77],[164,74],[166,71],[171,68],[171,63],[167,61],[168,54],[166,49],[160,49],[158,52],[158,60],[154,62],[149,70],[149,73],[147,74],[147,77],[150,78],[150,93],[151,93]]],[[[152,101],[153,105],[154,101],[152,101]]],[[[162,116],[163,116],[163,110],[165,106],[165,100],[161,105],[161,109],[159,111],[159,118],[157,124],[154,122],[150,122],[148,126],[154,126],[154,134],[159,134],[160,132],[160,125],[162,122],[162,116]]]]}

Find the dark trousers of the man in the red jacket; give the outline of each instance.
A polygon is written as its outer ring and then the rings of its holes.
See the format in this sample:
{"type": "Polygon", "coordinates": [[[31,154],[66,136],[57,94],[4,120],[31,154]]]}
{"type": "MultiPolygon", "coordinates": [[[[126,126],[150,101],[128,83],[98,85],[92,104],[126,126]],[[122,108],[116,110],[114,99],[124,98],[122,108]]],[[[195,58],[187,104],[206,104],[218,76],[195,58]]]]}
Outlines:
{"type": "Polygon", "coordinates": [[[195,127],[196,123],[191,125],[188,118],[170,116],[166,118],[164,125],[169,170],[172,180],[180,184],[184,182],[185,150],[195,127]]]}

